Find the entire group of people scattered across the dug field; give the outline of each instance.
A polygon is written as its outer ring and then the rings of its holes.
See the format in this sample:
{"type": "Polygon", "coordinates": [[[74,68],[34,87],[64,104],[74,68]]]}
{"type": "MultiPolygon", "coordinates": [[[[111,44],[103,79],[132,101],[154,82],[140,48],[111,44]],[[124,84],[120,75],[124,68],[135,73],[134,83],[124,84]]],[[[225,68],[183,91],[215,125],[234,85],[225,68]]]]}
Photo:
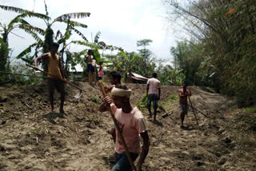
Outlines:
{"type": "MultiPolygon", "coordinates": [[[[54,89],[58,90],[58,93],[61,93],[61,104],[60,104],[60,113],[64,113],[63,105],[65,99],[65,89],[64,83],[67,82],[64,78],[64,73],[62,70],[62,62],[58,54],[58,43],[54,43],[51,47],[51,50],[47,54],[42,54],[42,56],[34,59],[35,67],[38,68],[38,61],[45,59],[48,66],[48,85],[50,93],[50,104],[51,110],[54,111],[54,89]],[[56,77],[53,77],[56,76],[56,77]]],[[[96,83],[96,74],[95,68],[93,66],[93,53],[92,50],[88,51],[86,56],[87,71],[90,76],[90,83],[96,83]]],[[[102,65],[99,69],[99,78],[104,76],[102,65]],[[100,77],[101,76],[101,77],[100,77]]],[[[154,108],[154,121],[157,117],[158,101],[161,97],[161,83],[157,79],[157,74],[154,73],[152,78],[148,79],[146,86],[146,95],[148,97],[147,108],[149,111],[149,117],[152,117],[151,113],[151,103],[153,102],[154,108]]],[[[126,142],[130,157],[133,161],[137,159],[138,162],[136,170],[142,169],[142,164],[146,159],[147,153],[150,148],[150,138],[146,129],[146,121],[142,115],[142,112],[130,102],[130,96],[132,90],[128,89],[126,85],[121,83],[122,75],[118,71],[113,71],[110,73],[110,86],[106,86],[106,92],[111,94],[111,97],[105,97],[102,105],[99,107],[99,111],[106,112],[112,110],[114,113],[115,119],[118,121],[118,127],[121,130],[122,137],[126,142]],[[140,138],[142,137],[143,144],[141,146],[140,138]],[[139,155],[140,154],[140,155],[139,155]]],[[[183,121],[185,115],[188,111],[187,97],[191,96],[190,89],[186,89],[186,83],[182,84],[182,89],[178,90],[179,95],[179,109],[181,114],[181,128],[184,127],[183,121]]],[[[126,156],[126,150],[122,141],[120,140],[120,135],[118,134],[117,129],[113,126],[110,129],[110,133],[113,137],[115,144],[115,158],[116,164],[111,169],[112,171],[123,171],[131,170],[131,165],[126,156]]]]}

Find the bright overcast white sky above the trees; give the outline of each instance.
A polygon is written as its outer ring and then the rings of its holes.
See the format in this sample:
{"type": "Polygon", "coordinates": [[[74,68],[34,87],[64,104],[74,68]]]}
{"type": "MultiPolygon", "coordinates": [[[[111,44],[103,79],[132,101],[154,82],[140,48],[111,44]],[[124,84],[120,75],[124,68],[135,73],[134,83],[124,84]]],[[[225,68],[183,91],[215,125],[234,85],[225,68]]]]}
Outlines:
{"type": "MultiPolygon", "coordinates": [[[[61,14],[71,12],[90,12],[90,18],[78,19],[88,26],[87,29],[78,27],[90,41],[91,34],[101,31],[100,40],[107,45],[119,46],[126,51],[137,51],[136,42],[143,38],[150,38],[153,43],[150,50],[156,58],[170,59],[170,46],[175,46],[178,36],[167,29],[166,10],[161,0],[46,0],[48,11],[52,19],[61,14]]],[[[5,6],[16,6],[26,10],[45,14],[43,0],[0,0],[5,6]]],[[[0,22],[8,23],[17,14],[0,10],[0,22]]],[[[26,19],[33,26],[42,29],[46,24],[39,19],[26,19]]],[[[53,29],[65,30],[64,24],[54,24],[53,29]]],[[[19,54],[34,41],[30,35],[20,30],[10,34],[10,47],[14,48],[13,56],[19,54]]],[[[74,40],[79,37],[74,36],[74,40]]],[[[82,39],[81,39],[82,40],[82,39]]],[[[82,50],[81,46],[71,46],[71,51],[82,50]]]]}

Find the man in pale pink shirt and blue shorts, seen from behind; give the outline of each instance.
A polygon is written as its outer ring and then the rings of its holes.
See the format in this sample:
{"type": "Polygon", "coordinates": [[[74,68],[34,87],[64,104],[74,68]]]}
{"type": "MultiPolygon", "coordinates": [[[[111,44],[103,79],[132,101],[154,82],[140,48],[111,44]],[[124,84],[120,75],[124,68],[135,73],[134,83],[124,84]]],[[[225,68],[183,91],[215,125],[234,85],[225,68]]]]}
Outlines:
{"type": "Polygon", "coordinates": [[[152,117],[151,103],[153,101],[154,121],[156,121],[157,109],[158,109],[158,101],[160,100],[160,95],[161,95],[161,83],[157,79],[158,78],[158,74],[153,73],[152,77],[153,78],[150,78],[147,81],[147,86],[146,86],[147,109],[149,110],[150,117],[152,117]]]}

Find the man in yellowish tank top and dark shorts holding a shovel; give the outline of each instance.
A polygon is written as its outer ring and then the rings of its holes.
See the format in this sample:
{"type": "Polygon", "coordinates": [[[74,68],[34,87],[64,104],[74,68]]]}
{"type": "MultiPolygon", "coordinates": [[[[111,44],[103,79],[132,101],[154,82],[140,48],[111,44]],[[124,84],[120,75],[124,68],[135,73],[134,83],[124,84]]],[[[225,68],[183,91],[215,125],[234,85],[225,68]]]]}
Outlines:
{"type": "Polygon", "coordinates": [[[51,111],[54,111],[54,89],[58,90],[58,93],[61,93],[61,105],[59,108],[60,113],[64,113],[63,105],[65,100],[65,89],[64,82],[66,78],[64,78],[64,73],[62,70],[62,62],[61,58],[58,56],[58,43],[53,43],[51,46],[50,52],[46,54],[42,54],[42,56],[34,59],[34,66],[38,69],[38,61],[45,59],[48,66],[48,86],[50,93],[50,105],[51,111]]]}

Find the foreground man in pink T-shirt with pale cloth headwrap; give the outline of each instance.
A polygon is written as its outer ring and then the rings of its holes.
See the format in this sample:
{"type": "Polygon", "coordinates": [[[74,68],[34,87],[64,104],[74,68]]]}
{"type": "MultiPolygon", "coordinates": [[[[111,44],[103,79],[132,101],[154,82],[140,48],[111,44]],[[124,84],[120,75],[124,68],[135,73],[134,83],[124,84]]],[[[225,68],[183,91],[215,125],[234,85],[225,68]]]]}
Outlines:
{"type": "MultiPolygon", "coordinates": [[[[149,151],[150,141],[144,117],[137,107],[131,105],[130,94],[131,90],[127,89],[126,85],[116,85],[111,91],[114,103],[110,97],[105,97],[99,110],[105,112],[112,109],[114,116],[118,121],[119,128],[121,129],[122,136],[126,141],[132,160],[135,161],[139,153],[141,153],[136,165],[136,169],[140,171],[142,170],[142,164],[149,151]],[[140,137],[143,139],[142,148],[140,137]]],[[[116,135],[115,156],[117,162],[112,168],[112,171],[130,171],[132,169],[117,130],[116,135]]]]}

